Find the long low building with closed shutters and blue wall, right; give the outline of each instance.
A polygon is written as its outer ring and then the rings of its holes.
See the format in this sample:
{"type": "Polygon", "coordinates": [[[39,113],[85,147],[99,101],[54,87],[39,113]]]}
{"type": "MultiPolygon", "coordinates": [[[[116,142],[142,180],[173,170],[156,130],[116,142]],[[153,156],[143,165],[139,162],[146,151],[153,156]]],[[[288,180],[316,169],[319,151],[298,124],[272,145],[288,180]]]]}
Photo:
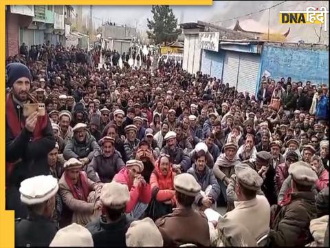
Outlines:
{"type": "Polygon", "coordinates": [[[276,81],[291,76],[296,82],[329,82],[325,73],[329,70],[328,45],[263,41],[255,39],[254,33],[207,26],[201,22],[181,24],[185,34],[183,68],[190,73],[201,71],[250,94],[259,90],[266,71],[276,81]]]}

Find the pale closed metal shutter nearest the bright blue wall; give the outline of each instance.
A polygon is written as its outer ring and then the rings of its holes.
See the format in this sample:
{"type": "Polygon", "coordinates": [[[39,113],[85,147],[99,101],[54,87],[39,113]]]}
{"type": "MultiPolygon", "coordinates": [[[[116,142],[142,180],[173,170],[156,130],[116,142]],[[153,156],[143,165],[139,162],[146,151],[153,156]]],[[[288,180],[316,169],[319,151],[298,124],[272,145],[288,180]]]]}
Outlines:
{"type": "Polygon", "coordinates": [[[256,93],[256,81],[258,80],[260,56],[257,54],[240,54],[238,92],[256,93]]]}

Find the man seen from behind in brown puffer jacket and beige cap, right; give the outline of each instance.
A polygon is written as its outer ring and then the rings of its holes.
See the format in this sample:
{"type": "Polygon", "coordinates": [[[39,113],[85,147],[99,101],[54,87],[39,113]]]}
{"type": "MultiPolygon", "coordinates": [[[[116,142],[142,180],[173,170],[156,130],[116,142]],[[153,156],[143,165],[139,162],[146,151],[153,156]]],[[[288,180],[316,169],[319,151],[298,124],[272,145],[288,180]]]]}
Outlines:
{"type": "Polygon", "coordinates": [[[283,207],[277,206],[271,220],[270,245],[305,246],[309,242],[309,223],[316,218],[316,205],[311,187],[318,176],[304,162],[289,167],[292,176],[292,194],[283,207]]]}

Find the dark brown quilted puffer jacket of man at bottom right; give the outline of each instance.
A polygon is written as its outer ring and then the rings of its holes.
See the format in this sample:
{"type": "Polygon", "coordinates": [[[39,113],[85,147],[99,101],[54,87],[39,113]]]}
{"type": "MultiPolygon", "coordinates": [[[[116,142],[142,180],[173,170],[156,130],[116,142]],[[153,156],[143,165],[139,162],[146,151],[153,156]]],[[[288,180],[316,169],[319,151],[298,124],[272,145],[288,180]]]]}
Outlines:
{"type": "Polygon", "coordinates": [[[313,192],[296,192],[291,202],[278,208],[271,223],[272,246],[305,246],[311,241],[309,223],[316,218],[313,192]]]}

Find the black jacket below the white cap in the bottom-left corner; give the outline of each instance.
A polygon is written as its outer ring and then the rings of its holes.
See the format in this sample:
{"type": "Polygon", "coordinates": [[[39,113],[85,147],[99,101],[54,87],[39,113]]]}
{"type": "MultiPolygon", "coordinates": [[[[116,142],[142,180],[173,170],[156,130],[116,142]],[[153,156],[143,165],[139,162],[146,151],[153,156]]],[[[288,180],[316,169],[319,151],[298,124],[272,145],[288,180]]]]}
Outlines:
{"type": "Polygon", "coordinates": [[[58,228],[43,216],[15,220],[15,247],[49,247],[58,228]]]}

